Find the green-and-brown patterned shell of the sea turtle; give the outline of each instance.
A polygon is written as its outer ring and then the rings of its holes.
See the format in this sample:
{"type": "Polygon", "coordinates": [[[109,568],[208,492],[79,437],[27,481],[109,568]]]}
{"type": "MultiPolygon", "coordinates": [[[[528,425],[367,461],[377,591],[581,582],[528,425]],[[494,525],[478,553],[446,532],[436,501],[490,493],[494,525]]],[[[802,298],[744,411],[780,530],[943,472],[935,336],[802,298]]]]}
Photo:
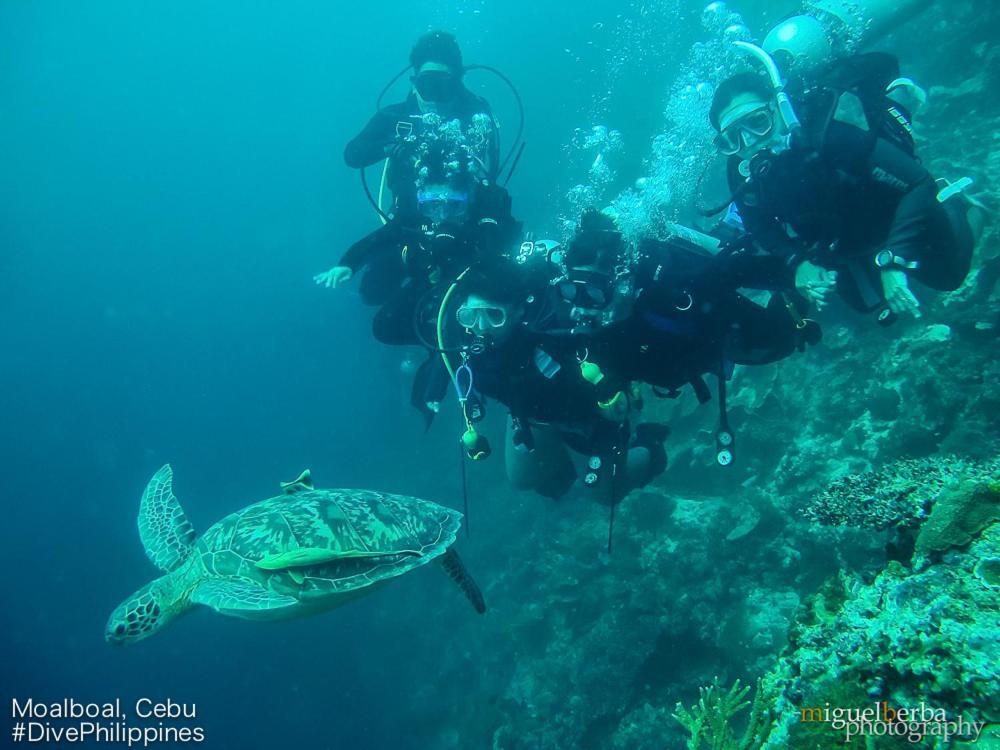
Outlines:
{"type": "Polygon", "coordinates": [[[458,511],[414,497],[310,490],[226,516],[202,535],[198,552],[210,575],[248,578],[308,602],[424,565],[455,541],[461,523],[458,511]]]}

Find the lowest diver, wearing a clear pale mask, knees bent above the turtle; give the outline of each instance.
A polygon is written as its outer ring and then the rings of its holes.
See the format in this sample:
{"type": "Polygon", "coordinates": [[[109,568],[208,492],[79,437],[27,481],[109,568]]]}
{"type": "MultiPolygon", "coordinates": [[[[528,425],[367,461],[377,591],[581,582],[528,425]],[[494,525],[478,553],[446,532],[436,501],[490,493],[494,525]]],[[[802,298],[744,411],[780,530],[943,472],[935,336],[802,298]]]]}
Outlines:
{"type": "Polygon", "coordinates": [[[470,458],[488,455],[475,424],[487,399],[499,402],[508,410],[504,463],[513,487],[555,499],[582,475],[613,504],[664,471],[667,432],[648,423],[633,428],[638,391],[612,378],[595,382],[580,365],[576,342],[535,330],[555,273],[547,257],[553,245],[525,243],[527,255],[484,263],[458,283],[454,320],[462,338],[473,341],[454,375],[456,386],[467,383],[463,444],[470,458]]]}

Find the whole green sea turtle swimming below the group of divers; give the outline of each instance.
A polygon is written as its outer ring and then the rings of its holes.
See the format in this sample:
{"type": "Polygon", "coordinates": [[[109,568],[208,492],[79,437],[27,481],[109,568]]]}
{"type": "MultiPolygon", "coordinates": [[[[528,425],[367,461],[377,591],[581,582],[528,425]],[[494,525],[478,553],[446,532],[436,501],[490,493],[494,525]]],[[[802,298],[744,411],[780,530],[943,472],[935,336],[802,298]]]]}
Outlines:
{"type": "Polygon", "coordinates": [[[451,544],[462,514],[413,497],[314,489],[309,472],[283,494],[223,518],[196,538],[163,466],[139,505],[139,536],[165,575],[111,614],[104,637],[152,635],[194,604],[253,620],[331,609],[440,557],[477,612],[483,595],[451,544]]]}

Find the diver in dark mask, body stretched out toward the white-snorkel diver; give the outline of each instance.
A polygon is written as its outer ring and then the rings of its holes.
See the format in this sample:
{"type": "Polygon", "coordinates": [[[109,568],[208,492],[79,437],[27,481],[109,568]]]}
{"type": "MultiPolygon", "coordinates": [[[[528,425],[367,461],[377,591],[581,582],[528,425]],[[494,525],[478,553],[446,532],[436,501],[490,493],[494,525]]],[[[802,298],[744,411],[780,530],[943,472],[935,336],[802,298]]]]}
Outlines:
{"type": "Polygon", "coordinates": [[[819,326],[805,306],[780,290],[791,280],[783,259],[743,246],[717,254],[681,237],[646,238],[630,249],[614,220],[585,213],[561,259],[553,285],[561,302],[544,325],[569,335],[592,373],[641,382],[676,398],[690,385],[699,402],[711,398],[705,376],[718,380],[718,462],[733,460],[726,417],[726,381],[733,366],[776,362],[815,344],[819,326]],[[775,292],[766,306],[741,288],[775,292]]]}

